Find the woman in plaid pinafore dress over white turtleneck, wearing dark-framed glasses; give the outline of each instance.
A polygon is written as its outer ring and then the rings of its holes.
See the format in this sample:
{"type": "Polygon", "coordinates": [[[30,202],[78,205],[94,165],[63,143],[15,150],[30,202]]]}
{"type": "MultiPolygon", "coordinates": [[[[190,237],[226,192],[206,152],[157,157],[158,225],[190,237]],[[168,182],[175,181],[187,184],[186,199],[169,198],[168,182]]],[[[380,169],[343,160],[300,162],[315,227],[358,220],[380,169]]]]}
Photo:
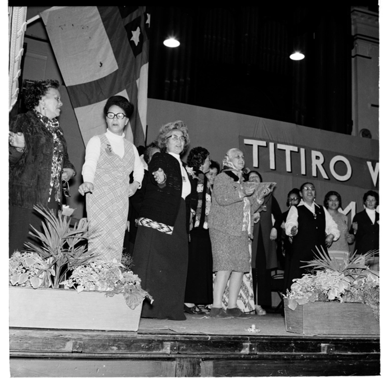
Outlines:
{"type": "Polygon", "coordinates": [[[123,96],[110,97],[104,107],[107,131],[86,146],[79,193],[86,195],[87,221],[92,234],[88,249],[107,262],[121,261],[129,200],[141,187],[143,164],[123,130],[134,106],[123,96]],[[134,181],[129,182],[133,171],[134,181]]]}

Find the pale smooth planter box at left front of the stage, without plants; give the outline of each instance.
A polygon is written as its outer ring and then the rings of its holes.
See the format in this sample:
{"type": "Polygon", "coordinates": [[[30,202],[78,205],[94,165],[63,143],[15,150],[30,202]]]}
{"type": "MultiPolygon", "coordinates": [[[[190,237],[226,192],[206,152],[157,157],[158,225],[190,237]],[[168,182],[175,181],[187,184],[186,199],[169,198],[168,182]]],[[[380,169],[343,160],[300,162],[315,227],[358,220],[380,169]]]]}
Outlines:
{"type": "Polygon", "coordinates": [[[10,326],[137,331],[142,304],[131,310],[122,294],[10,286],[10,326]]]}

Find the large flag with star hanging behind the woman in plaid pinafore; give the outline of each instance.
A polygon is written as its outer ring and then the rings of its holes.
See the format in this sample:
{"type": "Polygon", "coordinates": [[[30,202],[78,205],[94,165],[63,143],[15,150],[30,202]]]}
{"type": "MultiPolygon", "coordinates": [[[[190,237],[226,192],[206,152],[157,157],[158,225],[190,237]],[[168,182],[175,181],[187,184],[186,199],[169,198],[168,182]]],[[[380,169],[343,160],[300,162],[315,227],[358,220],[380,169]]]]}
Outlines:
{"type": "Polygon", "coordinates": [[[40,14],[85,144],[106,131],[113,95],[134,104],[126,138],[145,144],[148,29],[146,7],[53,7],[40,14]]]}

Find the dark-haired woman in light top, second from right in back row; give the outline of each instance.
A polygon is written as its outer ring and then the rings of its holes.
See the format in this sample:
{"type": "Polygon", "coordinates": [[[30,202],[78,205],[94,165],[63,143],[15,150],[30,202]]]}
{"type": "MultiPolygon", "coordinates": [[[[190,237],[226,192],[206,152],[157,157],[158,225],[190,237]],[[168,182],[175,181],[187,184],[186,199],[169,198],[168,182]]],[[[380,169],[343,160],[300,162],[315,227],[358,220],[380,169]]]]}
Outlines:
{"type": "Polygon", "coordinates": [[[339,239],[332,242],[331,246],[328,248],[328,251],[344,252],[348,255],[350,251],[348,245],[354,242],[354,236],[348,233],[347,216],[338,212],[338,209],[342,207],[342,199],[340,194],[336,191],[328,191],[324,197],[323,205],[338,226],[338,230],[340,232],[339,239]]]}

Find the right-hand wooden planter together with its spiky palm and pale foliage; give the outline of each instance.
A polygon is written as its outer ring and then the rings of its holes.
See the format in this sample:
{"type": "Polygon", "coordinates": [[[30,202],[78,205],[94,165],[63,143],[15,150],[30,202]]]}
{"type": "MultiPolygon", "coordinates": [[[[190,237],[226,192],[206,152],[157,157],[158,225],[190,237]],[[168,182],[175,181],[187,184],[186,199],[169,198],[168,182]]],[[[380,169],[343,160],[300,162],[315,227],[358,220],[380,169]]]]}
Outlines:
{"type": "Polygon", "coordinates": [[[337,259],[319,252],[284,296],[287,331],[379,334],[379,273],[362,264],[374,252],[337,259]]]}

